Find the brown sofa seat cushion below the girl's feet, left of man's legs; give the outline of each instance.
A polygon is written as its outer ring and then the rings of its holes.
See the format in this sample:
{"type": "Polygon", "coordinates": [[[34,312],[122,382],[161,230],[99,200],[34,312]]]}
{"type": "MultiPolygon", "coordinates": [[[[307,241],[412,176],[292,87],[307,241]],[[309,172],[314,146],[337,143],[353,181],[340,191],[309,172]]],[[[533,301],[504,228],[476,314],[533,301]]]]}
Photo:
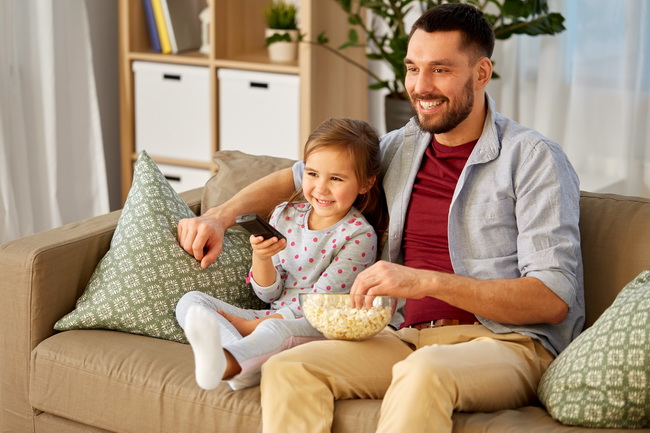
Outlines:
{"type": "Polygon", "coordinates": [[[192,349],[103,330],[62,332],[32,354],[35,409],[113,432],[259,432],[259,387],[203,391],[192,349]]]}

